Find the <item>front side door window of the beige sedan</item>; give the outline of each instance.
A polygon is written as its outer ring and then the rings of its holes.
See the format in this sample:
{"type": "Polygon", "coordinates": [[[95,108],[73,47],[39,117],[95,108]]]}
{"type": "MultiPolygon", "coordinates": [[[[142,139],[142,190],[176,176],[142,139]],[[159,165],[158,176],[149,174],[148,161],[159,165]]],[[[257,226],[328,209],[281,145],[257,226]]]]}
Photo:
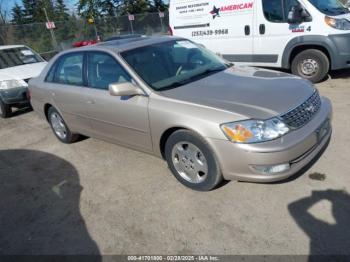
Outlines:
{"type": "Polygon", "coordinates": [[[110,55],[101,52],[88,53],[89,87],[108,90],[111,83],[130,82],[131,77],[110,55]]]}

